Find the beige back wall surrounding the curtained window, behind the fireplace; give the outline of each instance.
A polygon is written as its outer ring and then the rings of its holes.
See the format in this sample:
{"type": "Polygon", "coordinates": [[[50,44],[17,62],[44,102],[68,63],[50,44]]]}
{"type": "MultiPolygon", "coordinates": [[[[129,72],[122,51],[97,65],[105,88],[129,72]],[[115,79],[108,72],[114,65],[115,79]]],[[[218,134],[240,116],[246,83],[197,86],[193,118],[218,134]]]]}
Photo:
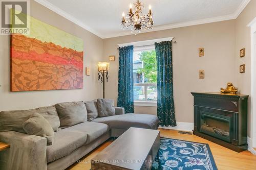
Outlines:
{"type": "MultiPolygon", "coordinates": [[[[177,122],[193,123],[191,91],[219,91],[227,82],[237,84],[235,65],[235,20],[169,29],[138,35],[104,39],[103,55],[115,55],[110,62],[110,81],[106,83],[106,98],[117,101],[118,50],[117,44],[149,39],[175,37],[173,45],[174,102],[177,122]],[[198,48],[205,48],[205,56],[198,57],[198,48]],[[198,71],[205,70],[205,79],[198,71]]],[[[135,107],[135,112],[156,114],[154,107],[135,107]]]]}

